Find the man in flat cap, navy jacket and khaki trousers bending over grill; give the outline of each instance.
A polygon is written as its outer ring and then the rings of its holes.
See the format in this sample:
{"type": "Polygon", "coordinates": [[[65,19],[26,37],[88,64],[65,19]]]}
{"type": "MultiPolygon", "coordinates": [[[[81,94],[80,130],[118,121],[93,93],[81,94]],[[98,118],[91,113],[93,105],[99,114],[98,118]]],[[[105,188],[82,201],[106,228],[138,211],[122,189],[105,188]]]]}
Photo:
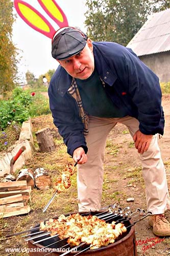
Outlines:
{"type": "Polygon", "coordinates": [[[54,123],[78,161],[79,211],[101,207],[106,139],[117,122],[125,124],[139,153],[150,225],[170,236],[163,213],[170,209],[166,174],[157,142],[164,115],[158,77],[131,49],[92,42],[77,28],[63,28],[52,40],[60,66],[48,95],[54,123]]]}

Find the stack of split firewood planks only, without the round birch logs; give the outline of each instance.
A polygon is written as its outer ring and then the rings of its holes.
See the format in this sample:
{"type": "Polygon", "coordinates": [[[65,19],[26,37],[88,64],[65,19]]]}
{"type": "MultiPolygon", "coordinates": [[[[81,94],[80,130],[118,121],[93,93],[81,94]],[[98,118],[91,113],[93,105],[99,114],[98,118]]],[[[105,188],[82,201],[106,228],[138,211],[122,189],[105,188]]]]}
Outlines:
{"type": "Polygon", "coordinates": [[[31,186],[27,181],[0,182],[0,218],[28,214],[31,186]]]}

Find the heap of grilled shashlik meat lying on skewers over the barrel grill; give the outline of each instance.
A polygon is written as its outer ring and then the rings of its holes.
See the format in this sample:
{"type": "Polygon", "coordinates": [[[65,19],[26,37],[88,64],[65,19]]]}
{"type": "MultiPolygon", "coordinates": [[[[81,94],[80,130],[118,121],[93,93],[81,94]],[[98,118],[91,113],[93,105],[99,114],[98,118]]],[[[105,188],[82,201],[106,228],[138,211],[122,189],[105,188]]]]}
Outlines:
{"type": "Polygon", "coordinates": [[[40,223],[40,230],[51,231],[51,236],[59,234],[60,239],[67,238],[70,246],[77,246],[82,242],[91,245],[90,249],[100,248],[114,243],[120,234],[127,229],[123,223],[111,224],[96,216],[81,216],[73,214],[58,219],[50,219],[40,223]]]}

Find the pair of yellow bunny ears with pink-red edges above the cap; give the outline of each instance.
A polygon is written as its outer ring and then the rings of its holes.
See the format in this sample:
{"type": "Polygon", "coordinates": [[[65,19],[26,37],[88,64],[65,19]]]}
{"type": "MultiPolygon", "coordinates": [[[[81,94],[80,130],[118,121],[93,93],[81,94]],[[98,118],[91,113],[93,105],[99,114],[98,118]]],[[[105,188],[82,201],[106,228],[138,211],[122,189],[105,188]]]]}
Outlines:
{"type": "MultiPolygon", "coordinates": [[[[59,26],[68,27],[67,18],[60,8],[60,6],[55,2],[55,0],[37,0],[43,10],[50,16],[59,26]]],[[[34,30],[40,32],[41,34],[53,38],[56,30],[48,22],[48,20],[35,8],[33,8],[28,3],[21,0],[14,0],[14,7],[19,14],[19,16],[34,30]]]]}

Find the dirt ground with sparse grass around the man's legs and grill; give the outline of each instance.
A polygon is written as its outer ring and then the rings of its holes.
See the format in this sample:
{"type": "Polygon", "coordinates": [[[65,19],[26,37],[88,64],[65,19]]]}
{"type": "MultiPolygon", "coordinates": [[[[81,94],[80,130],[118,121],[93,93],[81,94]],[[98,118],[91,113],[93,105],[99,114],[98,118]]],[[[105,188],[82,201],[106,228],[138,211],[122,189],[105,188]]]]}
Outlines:
{"type": "MultiPolygon", "coordinates": [[[[159,140],[159,145],[161,148],[162,158],[165,164],[166,175],[168,187],[170,187],[170,155],[169,155],[169,147],[170,147],[170,118],[169,118],[169,109],[170,109],[170,95],[163,96],[162,104],[165,113],[165,132],[164,136],[159,140]]],[[[53,130],[53,135],[56,137],[57,132],[52,123],[52,117],[48,116],[48,118],[34,118],[33,119],[33,131],[36,132],[42,127],[50,126],[53,130]]],[[[58,137],[59,138],[59,137],[58,137]]],[[[26,163],[26,167],[35,169],[37,167],[48,168],[49,173],[54,177],[57,173],[55,166],[62,167],[65,165],[66,161],[71,161],[68,155],[65,153],[66,149],[62,148],[60,144],[56,147],[56,152],[51,154],[40,153],[36,148],[36,153],[33,156],[31,161],[26,163]],[[56,165],[57,164],[57,165],[56,165]],[[52,167],[54,166],[54,168],[52,167]]],[[[103,185],[103,198],[102,198],[102,206],[106,206],[109,204],[114,204],[118,202],[120,207],[124,208],[130,206],[132,212],[136,210],[136,208],[143,208],[147,211],[146,203],[145,203],[145,190],[144,183],[141,175],[141,164],[138,158],[136,149],[134,148],[134,144],[126,126],[124,125],[116,125],[115,128],[111,131],[105,153],[105,176],[104,176],[104,185],[103,185]],[[134,202],[127,202],[128,198],[134,198],[134,202]]],[[[7,247],[11,243],[15,245],[15,247],[27,246],[26,243],[23,242],[21,238],[16,241],[13,240],[5,240],[4,237],[13,232],[19,231],[21,228],[26,229],[35,224],[36,220],[39,218],[49,218],[56,216],[57,214],[61,214],[63,212],[71,212],[73,210],[77,210],[77,194],[76,194],[76,180],[72,188],[69,188],[66,194],[61,195],[56,199],[51,207],[49,207],[46,215],[42,217],[42,209],[44,207],[44,203],[34,203],[35,198],[38,198],[41,201],[41,195],[48,197],[49,199],[53,195],[53,190],[50,190],[50,194],[47,195],[43,192],[40,193],[38,191],[33,191],[33,201],[32,201],[32,211],[29,216],[20,216],[20,217],[11,217],[7,218],[4,221],[1,221],[2,226],[2,238],[0,245],[0,255],[28,255],[25,254],[12,254],[5,253],[4,248],[7,247]],[[55,205],[56,203],[56,205],[55,205]],[[67,204],[67,207],[66,207],[67,204]],[[16,228],[17,226],[17,228],[16,228]],[[17,245],[16,245],[17,244],[17,245]]],[[[46,198],[46,201],[48,201],[46,198]]],[[[169,211],[165,212],[167,219],[170,221],[170,213],[169,211]]],[[[1,234],[1,232],[0,232],[1,234]]],[[[163,240],[158,241],[155,245],[152,244],[152,240],[155,238],[152,233],[152,228],[148,224],[148,218],[142,220],[139,223],[135,224],[135,235],[137,242],[137,252],[138,255],[170,255],[170,239],[165,238],[163,240]]],[[[37,254],[38,255],[38,254],[37,254]]],[[[82,254],[83,255],[83,254],[82,254]]]]}

